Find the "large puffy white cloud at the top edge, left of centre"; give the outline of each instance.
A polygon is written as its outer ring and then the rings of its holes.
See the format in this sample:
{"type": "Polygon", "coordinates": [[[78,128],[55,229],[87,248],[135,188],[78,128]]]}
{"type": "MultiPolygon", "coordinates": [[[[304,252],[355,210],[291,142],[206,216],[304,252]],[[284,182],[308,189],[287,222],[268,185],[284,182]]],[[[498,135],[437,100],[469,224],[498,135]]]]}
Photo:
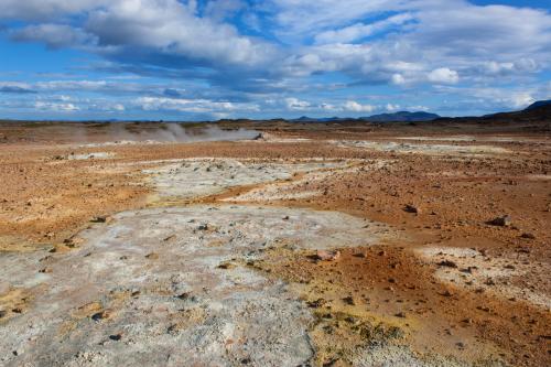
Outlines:
{"type": "Polygon", "coordinates": [[[90,11],[85,29],[111,56],[142,47],[169,58],[168,63],[172,56],[253,66],[264,64],[274,52],[272,45],[242,36],[230,24],[197,17],[176,0],[114,1],[90,11]]]}

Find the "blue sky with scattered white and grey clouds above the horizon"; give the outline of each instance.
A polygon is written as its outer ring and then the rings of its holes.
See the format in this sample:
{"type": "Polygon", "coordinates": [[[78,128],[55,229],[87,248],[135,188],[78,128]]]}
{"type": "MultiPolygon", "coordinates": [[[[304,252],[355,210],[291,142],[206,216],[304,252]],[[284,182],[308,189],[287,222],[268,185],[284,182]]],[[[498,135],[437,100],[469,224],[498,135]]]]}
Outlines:
{"type": "Polygon", "coordinates": [[[474,116],[551,99],[551,1],[0,0],[0,118],[474,116]]]}

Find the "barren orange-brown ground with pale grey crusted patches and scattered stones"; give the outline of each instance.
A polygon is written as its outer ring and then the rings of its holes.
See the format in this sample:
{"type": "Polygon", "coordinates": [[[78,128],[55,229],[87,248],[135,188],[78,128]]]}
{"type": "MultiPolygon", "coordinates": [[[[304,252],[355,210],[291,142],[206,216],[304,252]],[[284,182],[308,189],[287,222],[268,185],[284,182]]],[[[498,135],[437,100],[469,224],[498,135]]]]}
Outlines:
{"type": "Polygon", "coordinates": [[[0,144],[0,365],[550,365],[548,136],[101,131],[0,144]]]}

